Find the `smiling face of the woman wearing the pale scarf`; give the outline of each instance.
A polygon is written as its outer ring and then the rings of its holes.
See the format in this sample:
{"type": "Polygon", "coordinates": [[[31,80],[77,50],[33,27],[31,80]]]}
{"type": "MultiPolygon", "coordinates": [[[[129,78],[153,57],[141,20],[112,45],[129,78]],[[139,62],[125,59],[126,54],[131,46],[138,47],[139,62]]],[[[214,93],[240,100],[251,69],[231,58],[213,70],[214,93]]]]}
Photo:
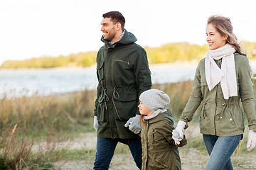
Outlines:
{"type": "Polygon", "coordinates": [[[223,35],[220,35],[212,23],[209,23],[206,26],[206,36],[206,41],[210,50],[216,50],[226,44],[227,38],[223,35]]]}

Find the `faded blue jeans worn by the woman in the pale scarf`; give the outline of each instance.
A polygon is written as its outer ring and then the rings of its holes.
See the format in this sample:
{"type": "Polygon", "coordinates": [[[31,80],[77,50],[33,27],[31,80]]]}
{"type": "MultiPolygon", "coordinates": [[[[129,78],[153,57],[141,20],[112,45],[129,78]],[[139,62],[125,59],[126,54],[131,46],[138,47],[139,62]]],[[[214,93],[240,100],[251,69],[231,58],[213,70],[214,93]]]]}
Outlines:
{"type": "Polygon", "coordinates": [[[231,155],[235,152],[242,135],[218,137],[203,135],[206,149],[210,155],[206,164],[207,170],[233,170],[231,155]]]}

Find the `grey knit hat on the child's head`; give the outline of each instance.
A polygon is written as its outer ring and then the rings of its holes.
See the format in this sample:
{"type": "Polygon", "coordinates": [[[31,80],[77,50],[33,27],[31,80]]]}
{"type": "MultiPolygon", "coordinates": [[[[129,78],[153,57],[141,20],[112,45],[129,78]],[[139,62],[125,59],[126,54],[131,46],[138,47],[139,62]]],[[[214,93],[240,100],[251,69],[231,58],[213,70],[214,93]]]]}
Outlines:
{"type": "Polygon", "coordinates": [[[144,91],[140,96],[139,100],[149,108],[150,111],[155,112],[158,109],[164,109],[170,104],[170,98],[163,91],[158,89],[149,89],[144,91]]]}

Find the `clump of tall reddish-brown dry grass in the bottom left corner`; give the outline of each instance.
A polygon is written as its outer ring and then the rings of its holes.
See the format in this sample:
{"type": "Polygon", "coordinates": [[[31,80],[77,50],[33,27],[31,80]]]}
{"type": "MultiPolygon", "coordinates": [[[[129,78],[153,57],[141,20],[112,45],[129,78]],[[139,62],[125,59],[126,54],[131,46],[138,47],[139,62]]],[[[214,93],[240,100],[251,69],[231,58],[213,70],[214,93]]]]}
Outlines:
{"type": "Polygon", "coordinates": [[[34,140],[29,140],[18,124],[6,128],[0,138],[0,169],[54,169],[51,162],[60,159],[68,150],[68,147],[58,148],[55,140],[56,137],[49,133],[35,150],[34,140]]]}

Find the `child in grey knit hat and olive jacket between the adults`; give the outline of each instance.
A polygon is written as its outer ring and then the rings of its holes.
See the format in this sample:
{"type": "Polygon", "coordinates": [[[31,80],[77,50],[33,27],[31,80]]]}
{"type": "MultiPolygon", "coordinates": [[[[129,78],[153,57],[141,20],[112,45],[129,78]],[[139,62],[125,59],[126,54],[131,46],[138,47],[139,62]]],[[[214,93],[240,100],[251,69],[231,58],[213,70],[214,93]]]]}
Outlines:
{"type": "Polygon", "coordinates": [[[139,123],[142,126],[142,169],[181,169],[178,147],[186,145],[186,137],[175,145],[172,139],[174,120],[170,98],[163,91],[150,89],[139,96],[139,123]]]}

